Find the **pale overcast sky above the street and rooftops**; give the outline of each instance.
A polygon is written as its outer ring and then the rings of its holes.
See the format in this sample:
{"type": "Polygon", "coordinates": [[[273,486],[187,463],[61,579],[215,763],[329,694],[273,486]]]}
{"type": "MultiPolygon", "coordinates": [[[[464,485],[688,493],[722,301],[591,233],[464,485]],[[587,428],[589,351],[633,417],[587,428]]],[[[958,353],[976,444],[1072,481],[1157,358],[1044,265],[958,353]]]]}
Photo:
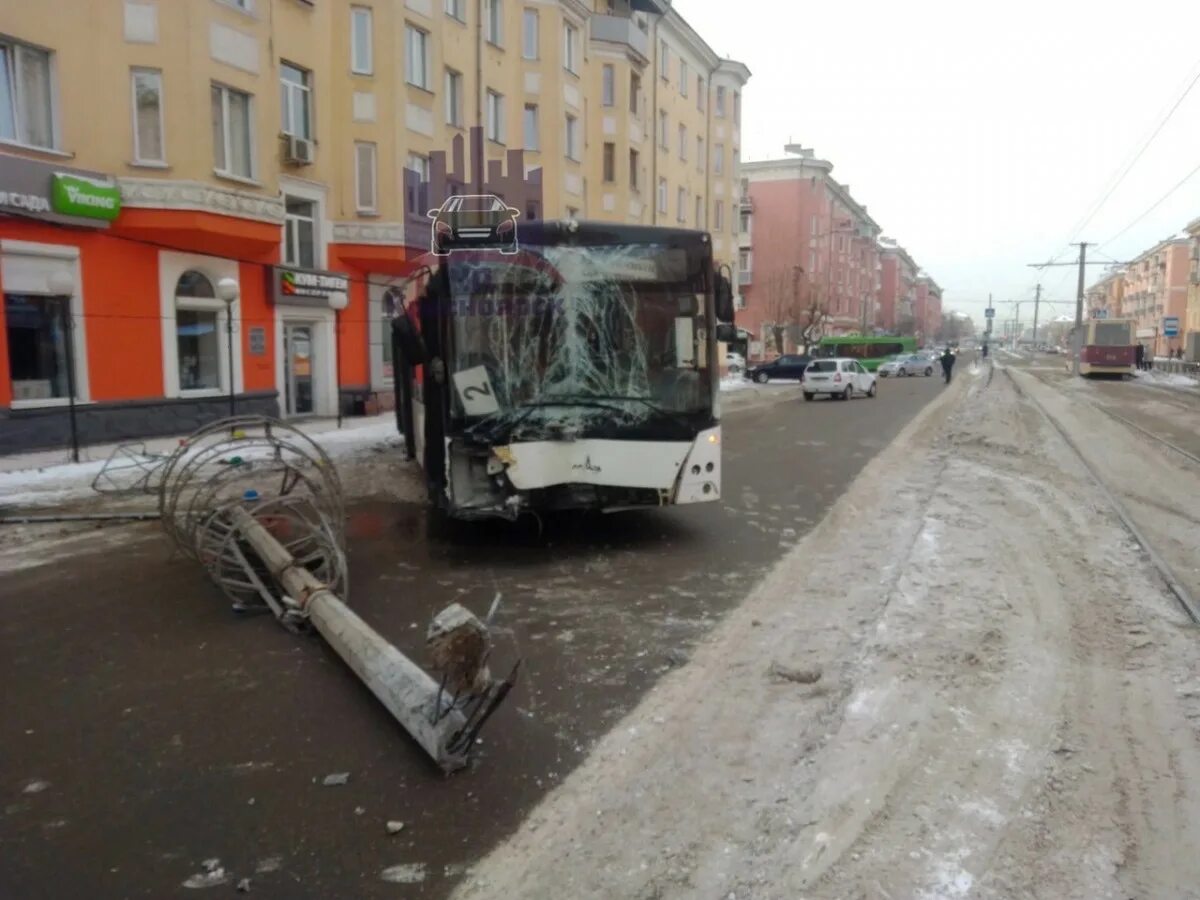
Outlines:
{"type": "MultiPolygon", "coordinates": [[[[983,320],[997,301],[1070,301],[1070,240],[1129,259],[1200,217],[1200,84],[1078,235],[1166,110],[1200,74],[1200,4],[1008,0],[674,0],[716,53],[745,62],[742,158],[788,140],[834,163],[887,236],[983,320]],[[1120,13],[1120,14],[1118,14],[1120,13]]],[[[1093,248],[1088,248],[1091,257],[1093,248]]],[[[1103,269],[1088,268],[1088,281],[1103,269]]],[[[997,317],[1010,314],[1001,306],[997,317]]],[[[1022,306],[1028,319],[1031,306],[1022,306]]]]}

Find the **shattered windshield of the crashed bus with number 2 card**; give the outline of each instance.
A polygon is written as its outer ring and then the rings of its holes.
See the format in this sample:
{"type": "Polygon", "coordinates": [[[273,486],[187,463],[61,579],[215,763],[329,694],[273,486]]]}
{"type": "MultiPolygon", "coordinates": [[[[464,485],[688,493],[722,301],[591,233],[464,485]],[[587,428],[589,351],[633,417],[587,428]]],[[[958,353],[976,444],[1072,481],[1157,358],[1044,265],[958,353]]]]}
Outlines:
{"type": "Polygon", "coordinates": [[[594,432],[708,415],[704,293],[685,251],[560,246],[457,254],[448,360],[482,431],[594,432]]]}

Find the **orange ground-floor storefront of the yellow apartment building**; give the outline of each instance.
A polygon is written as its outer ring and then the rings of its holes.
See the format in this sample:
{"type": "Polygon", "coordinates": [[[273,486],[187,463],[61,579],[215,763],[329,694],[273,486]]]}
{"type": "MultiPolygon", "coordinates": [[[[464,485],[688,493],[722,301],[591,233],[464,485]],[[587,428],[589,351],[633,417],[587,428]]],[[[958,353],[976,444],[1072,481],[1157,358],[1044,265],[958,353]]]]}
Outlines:
{"type": "Polygon", "coordinates": [[[329,271],[289,269],[280,200],[218,214],[121,184],[115,217],[89,220],[29,191],[61,167],[18,168],[0,184],[0,452],[68,446],[72,412],[80,445],[187,433],[228,415],[230,385],[238,414],[390,407],[382,294],[402,246],[335,241],[329,271]]]}

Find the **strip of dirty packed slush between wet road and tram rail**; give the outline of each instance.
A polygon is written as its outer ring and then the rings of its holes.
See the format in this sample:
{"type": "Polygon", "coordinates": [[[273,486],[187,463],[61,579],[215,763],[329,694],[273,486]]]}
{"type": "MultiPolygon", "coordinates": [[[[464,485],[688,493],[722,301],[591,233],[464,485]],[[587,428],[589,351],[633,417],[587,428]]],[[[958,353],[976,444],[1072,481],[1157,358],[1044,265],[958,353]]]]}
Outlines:
{"type": "Polygon", "coordinates": [[[456,896],[1194,896],[1195,641],[968,376],[456,896]]]}

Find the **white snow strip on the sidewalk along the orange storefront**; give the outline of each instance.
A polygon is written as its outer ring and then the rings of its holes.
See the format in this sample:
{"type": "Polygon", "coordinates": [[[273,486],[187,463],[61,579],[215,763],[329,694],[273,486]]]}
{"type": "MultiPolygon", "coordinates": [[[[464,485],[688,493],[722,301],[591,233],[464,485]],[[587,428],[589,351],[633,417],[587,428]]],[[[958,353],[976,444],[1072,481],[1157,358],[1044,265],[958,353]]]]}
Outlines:
{"type": "MultiPolygon", "coordinates": [[[[335,421],[326,420],[298,427],[334,458],[379,444],[400,443],[392,413],[346,419],[341,430],[335,421]]],[[[152,454],[170,454],[182,437],[186,436],[151,438],[145,442],[145,449],[152,454]]],[[[91,497],[92,480],[115,446],[86,448],[82,450],[84,461],[79,463],[65,462],[61,450],[0,457],[0,505],[47,506],[91,497]]]]}

